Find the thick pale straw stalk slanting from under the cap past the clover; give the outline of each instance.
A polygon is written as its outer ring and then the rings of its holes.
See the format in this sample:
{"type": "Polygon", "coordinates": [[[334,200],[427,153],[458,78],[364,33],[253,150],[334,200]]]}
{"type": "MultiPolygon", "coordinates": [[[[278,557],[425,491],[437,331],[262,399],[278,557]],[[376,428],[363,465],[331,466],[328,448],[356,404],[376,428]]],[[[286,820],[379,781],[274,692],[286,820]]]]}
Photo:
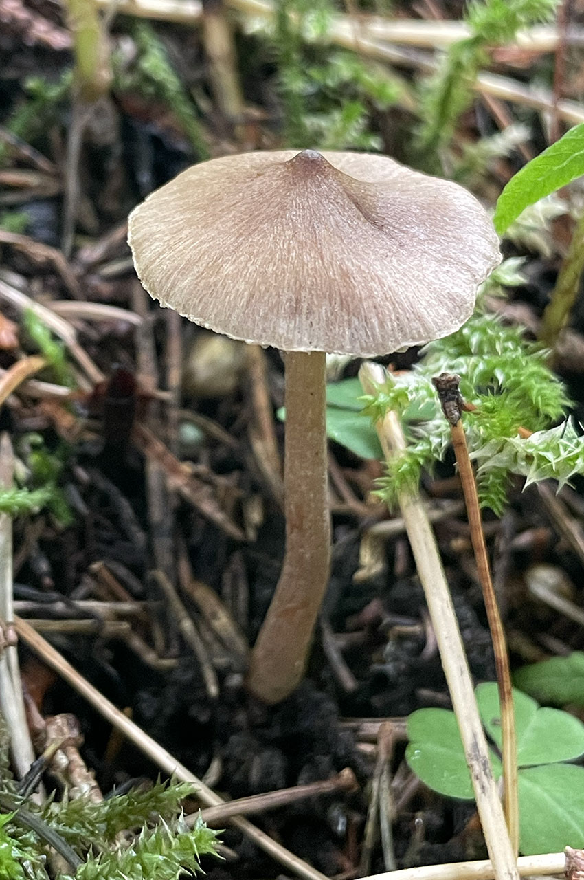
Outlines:
{"type": "MultiPolygon", "coordinates": [[[[379,364],[364,363],[359,378],[365,392],[375,394],[386,376],[379,364]]],[[[395,413],[389,412],[383,420],[376,422],[376,430],[386,458],[405,450],[405,437],[395,413]]],[[[493,874],[497,880],[516,880],[518,872],[515,854],[493,778],[485,731],[478,715],[471,673],[434,532],[420,495],[401,492],[399,507],[434,626],[442,668],[463,742],[464,756],[471,772],[478,816],[493,862],[493,874]]]]}

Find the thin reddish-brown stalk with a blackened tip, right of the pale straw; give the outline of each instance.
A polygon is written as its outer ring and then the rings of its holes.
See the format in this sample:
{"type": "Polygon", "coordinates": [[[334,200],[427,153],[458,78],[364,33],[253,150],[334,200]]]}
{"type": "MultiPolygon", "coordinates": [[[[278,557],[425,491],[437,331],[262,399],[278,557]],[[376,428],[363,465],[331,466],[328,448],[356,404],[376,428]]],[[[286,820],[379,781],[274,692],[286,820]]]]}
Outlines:
{"type": "MultiPolygon", "coordinates": [[[[486,551],[485,535],[478,503],[477,483],[472,470],[471,459],[464,436],[461,415],[468,407],[459,390],[460,379],[450,373],[442,373],[432,379],[442,406],[442,411],[449,422],[452,445],[456,455],[458,473],[463,486],[464,503],[466,505],[471,527],[471,543],[477,562],[478,579],[483,590],[485,609],[497,670],[499,686],[500,715],[502,729],[503,753],[503,787],[505,793],[505,814],[509,837],[517,854],[519,846],[519,805],[517,801],[517,744],[515,738],[515,715],[513,710],[513,693],[511,690],[511,672],[505,633],[500,620],[499,608],[493,588],[491,568],[486,551]]],[[[472,407],[474,408],[474,407],[472,407]]]]}

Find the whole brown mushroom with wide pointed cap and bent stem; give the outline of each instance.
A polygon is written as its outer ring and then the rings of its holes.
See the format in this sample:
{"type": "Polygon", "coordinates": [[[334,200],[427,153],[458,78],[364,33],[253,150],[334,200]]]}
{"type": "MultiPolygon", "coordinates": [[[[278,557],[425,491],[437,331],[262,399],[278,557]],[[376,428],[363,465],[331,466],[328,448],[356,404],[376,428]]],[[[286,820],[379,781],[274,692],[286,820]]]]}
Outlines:
{"type": "Polygon", "coordinates": [[[286,370],[286,552],[247,685],[276,703],[305,670],[330,568],[325,352],[376,356],[454,332],[499,263],[462,187],[390,158],[281,150],[194,165],[129,218],[143,287],[286,370]]]}

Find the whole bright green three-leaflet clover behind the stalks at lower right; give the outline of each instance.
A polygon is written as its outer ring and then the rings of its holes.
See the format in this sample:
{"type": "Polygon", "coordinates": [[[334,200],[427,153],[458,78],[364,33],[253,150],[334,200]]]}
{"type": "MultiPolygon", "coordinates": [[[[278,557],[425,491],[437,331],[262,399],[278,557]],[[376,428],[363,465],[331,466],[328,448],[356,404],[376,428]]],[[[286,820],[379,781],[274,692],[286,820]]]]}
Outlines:
{"type": "MultiPolygon", "coordinates": [[[[479,685],[478,709],[493,742],[492,765],[500,778],[500,707],[497,686],[479,685]]],[[[520,848],[523,854],[584,847],[584,767],[568,764],[584,753],[584,724],[558,709],[541,708],[514,690],[519,766],[520,848]]],[[[447,709],[419,709],[409,716],[405,759],[428,788],[472,799],[456,717],[447,709]]]]}

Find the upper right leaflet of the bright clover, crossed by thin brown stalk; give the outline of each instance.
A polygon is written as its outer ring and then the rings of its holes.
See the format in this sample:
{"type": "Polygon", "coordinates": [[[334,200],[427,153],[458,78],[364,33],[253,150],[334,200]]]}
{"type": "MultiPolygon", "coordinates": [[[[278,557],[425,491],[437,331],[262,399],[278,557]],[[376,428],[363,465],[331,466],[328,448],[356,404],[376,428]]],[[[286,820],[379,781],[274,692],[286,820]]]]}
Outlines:
{"type": "MultiPolygon", "coordinates": [[[[495,684],[479,685],[478,711],[485,730],[500,748],[499,693],[495,684]]],[[[584,724],[558,709],[540,708],[521,691],[513,691],[517,764],[520,767],[569,761],[584,754],[584,724]]]]}

